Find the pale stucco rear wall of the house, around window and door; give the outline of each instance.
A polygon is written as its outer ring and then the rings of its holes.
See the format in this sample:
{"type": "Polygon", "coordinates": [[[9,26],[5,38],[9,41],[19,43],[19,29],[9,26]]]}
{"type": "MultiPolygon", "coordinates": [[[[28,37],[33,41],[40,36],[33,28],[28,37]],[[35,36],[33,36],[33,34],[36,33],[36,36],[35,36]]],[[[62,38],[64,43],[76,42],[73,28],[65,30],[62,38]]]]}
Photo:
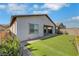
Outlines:
{"type": "Polygon", "coordinates": [[[46,16],[17,17],[16,19],[17,36],[21,41],[43,36],[43,25],[53,26],[53,33],[55,33],[54,24],[46,16]],[[30,23],[39,24],[38,34],[29,34],[30,23]]]}

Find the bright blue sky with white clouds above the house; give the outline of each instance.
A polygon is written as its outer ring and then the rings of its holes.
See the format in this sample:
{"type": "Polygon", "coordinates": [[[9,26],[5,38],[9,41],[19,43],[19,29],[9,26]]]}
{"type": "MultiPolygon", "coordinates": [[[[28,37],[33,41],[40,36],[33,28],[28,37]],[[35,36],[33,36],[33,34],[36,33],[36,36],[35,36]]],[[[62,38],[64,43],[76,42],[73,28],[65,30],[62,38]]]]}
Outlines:
{"type": "Polygon", "coordinates": [[[48,14],[55,23],[79,28],[79,3],[1,3],[0,24],[10,24],[12,15],[48,14]]]}

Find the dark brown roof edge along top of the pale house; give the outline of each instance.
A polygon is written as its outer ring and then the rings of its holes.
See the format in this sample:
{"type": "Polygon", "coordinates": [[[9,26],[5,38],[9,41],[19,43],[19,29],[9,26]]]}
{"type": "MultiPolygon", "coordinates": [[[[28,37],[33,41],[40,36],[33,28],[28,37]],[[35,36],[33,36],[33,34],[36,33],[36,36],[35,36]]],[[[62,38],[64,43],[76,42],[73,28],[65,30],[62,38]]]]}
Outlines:
{"type": "MultiPolygon", "coordinates": [[[[46,16],[55,25],[55,23],[50,19],[50,17],[47,14],[33,14],[33,15],[14,15],[14,16],[12,16],[10,26],[16,21],[16,17],[27,17],[27,16],[46,16]]],[[[56,25],[55,25],[55,27],[56,27],[56,25]]]]}

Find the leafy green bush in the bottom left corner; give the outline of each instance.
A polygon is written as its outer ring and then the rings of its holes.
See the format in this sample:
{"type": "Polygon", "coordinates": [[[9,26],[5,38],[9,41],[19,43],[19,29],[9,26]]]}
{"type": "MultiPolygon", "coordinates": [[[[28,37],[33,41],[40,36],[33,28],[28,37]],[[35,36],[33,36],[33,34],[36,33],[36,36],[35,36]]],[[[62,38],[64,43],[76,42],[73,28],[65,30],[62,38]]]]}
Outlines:
{"type": "Polygon", "coordinates": [[[2,56],[18,56],[20,55],[20,42],[18,38],[8,36],[1,42],[0,54],[2,56]]]}

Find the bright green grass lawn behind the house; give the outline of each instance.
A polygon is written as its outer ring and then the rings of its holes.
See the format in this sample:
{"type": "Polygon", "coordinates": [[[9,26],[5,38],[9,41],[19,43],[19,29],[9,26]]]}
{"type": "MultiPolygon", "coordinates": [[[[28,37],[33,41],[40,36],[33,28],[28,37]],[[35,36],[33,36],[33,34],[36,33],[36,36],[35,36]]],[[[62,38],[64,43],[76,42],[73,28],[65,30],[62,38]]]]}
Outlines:
{"type": "Polygon", "coordinates": [[[76,56],[73,38],[69,35],[60,35],[31,42],[27,47],[30,48],[33,56],[76,56]]]}

